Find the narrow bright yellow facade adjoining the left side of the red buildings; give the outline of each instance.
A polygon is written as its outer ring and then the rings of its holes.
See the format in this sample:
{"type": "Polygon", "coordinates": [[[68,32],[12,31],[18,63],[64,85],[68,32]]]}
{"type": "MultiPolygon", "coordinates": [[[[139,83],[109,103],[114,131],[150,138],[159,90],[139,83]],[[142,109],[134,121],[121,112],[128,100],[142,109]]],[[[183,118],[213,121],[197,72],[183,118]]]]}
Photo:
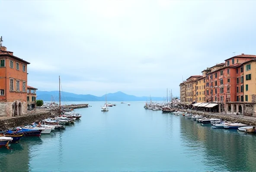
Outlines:
{"type": "Polygon", "coordinates": [[[195,81],[195,101],[205,102],[205,77],[199,77],[195,81]]]}

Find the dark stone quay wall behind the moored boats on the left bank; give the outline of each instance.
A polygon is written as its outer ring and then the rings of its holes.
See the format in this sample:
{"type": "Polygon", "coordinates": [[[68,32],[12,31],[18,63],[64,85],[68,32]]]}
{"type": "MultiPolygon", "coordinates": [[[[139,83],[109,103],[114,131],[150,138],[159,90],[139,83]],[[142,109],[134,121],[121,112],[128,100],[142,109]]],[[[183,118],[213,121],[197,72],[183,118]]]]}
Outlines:
{"type": "Polygon", "coordinates": [[[14,128],[17,126],[22,126],[26,124],[30,124],[33,122],[38,122],[44,120],[48,117],[53,117],[54,115],[50,112],[41,113],[41,114],[30,114],[25,116],[18,117],[6,117],[5,119],[0,120],[0,131],[4,131],[6,129],[14,128]]]}

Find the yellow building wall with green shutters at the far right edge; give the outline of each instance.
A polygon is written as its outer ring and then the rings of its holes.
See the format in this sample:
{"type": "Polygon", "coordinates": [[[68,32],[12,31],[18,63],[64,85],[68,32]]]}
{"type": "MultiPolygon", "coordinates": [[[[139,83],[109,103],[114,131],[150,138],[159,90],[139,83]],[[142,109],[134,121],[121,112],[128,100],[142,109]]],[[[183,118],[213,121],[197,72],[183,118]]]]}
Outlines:
{"type": "Polygon", "coordinates": [[[243,64],[243,86],[245,102],[256,102],[256,60],[250,60],[243,64]]]}

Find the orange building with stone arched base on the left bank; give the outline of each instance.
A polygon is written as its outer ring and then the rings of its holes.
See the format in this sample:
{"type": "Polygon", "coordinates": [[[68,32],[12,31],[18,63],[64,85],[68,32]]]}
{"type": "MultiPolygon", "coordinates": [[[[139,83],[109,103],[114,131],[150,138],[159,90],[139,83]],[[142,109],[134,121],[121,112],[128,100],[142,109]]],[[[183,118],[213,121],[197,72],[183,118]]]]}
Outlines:
{"type": "Polygon", "coordinates": [[[27,112],[27,65],[13,55],[0,39],[0,116],[20,116],[27,112]]]}

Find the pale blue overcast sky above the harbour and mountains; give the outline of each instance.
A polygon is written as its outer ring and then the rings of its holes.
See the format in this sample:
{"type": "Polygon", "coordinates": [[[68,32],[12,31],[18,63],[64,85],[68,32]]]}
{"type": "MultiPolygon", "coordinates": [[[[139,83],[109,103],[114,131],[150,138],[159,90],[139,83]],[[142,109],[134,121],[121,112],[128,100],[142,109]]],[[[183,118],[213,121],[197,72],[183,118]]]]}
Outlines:
{"type": "Polygon", "coordinates": [[[101,96],[179,96],[179,83],[256,55],[256,1],[0,0],[3,46],[28,85],[101,96]],[[235,52],[235,53],[234,53],[235,52]]]}

